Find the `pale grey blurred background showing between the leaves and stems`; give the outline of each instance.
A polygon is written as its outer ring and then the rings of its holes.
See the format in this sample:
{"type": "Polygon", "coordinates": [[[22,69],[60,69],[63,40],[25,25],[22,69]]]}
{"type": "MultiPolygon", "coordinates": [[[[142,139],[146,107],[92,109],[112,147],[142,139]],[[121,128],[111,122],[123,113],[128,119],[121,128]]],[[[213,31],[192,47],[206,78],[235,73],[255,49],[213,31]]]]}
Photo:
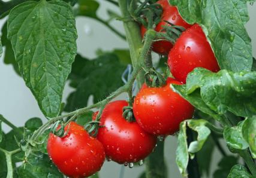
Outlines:
{"type": "MultiPolygon", "coordinates": [[[[108,2],[99,2],[100,9],[98,10],[98,16],[103,19],[104,17],[107,17],[108,9],[118,11],[118,8],[108,2]]],[[[253,20],[253,17],[256,17],[256,5],[248,6],[251,20],[246,24],[246,28],[252,38],[253,54],[256,56],[256,20],[253,20]]],[[[6,20],[6,18],[0,20],[0,29],[6,20]]],[[[93,59],[96,57],[95,51],[99,48],[104,51],[111,51],[114,48],[128,48],[127,42],[116,36],[115,33],[111,32],[106,26],[93,19],[77,17],[76,24],[79,36],[77,39],[78,53],[83,57],[93,59]]],[[[112,25],[121,32],[124,32],[121,21],[114,20],[112,25]]],[[[4,64],[3,57],[0,58],[0,81],[0,114],[9,119],[16,126],[24,125],[25,121],[32,117],[39,117],[43,119],[44,122],[46,121],[46,118],[44,118],[38,108],[34,96],[32,96],[29,88],[26,87],[23,79],[14,72],[13,66],[4,64]]],[[[71,91],[73,91],[73,89],[70,88],[67,83],[64,90],[63,102],[65,102],[71,91]]],[[[125,99],[125,96],[121,96],[119,99],[125,99]]],[[[3,124],[3,129],[5,132],[10,130],[10,128],[5,124],[3,124]]],[[[169,177],[179,178],[182,176],[180,176],[175,163],[176,148],[176,137],[167,137],[167,140],[165,141],[165,161],[168,165],[168,175],[169,177]]],[[[212,164],[210,165],[212,171],[218,167],[219,158],[218,150],[214,149],[212,164]]],[[[101,169],[100,177],[119,178],[123,173],[124,178],[138,177],[143,170],[144,165],[141,167],[129,168],[124,167],[124,165],[116,164],[115,162],[106,162],[101,169]]],[[[212,171],[210,172],[210,175],[212,175],[212,171]]]]}

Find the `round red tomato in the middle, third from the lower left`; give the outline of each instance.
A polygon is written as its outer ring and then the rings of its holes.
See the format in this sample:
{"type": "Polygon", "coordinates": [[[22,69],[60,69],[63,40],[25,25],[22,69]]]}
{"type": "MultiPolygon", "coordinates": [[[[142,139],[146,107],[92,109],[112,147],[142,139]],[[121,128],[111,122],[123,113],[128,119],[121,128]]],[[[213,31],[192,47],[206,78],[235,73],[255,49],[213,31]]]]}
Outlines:
{"type": "Polygon", "coordinates": [[[135,97],[135,119],[148,133],[159,136],[174,134],[179,130],[180,122],[192,118],[193,106],[174,93],[170,84],[181,83],[168,78],[167,84],[161,88],[150,88],[144,84],[135,97]]]}

